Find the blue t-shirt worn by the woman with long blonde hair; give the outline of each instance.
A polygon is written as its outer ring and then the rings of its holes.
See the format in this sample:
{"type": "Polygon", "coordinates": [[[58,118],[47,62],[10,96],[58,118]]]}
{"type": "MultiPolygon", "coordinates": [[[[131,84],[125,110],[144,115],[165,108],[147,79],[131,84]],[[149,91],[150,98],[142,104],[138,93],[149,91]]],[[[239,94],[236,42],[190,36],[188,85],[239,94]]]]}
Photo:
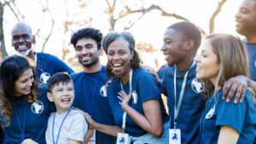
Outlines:
{"type": "MultiPolygon", "coordinates": [[[[256,107],[251,94],[246,91],[245,99],[238,104],[222,100],[223,89],[209,97],[206,109],[201,117],[201,144],[218,143],[222,125],[230,126],[240,135],[238,144],[253,143],[256,135],[256,107]]],[[[235,96],[233,96],[234,100],[235,96]]]]}

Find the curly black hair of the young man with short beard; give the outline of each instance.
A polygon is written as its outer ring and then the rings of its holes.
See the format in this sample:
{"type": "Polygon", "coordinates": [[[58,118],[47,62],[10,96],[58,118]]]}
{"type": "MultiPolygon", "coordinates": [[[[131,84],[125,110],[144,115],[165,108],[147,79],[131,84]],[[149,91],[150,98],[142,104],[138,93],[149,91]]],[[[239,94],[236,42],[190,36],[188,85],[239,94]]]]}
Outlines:
{"type": "Polygon", "coordinates": [[[78,32],[74,32],[70,39],[70,43],[72,43],[73,47],[76,48],[76,45],[79,39],[92,38],[96,41],[98,49],[101,49],[102,37],[103,37],[102,32],[100,30],[97,30],[92,27],[86,27],[86,28],[80,29],[78,32]]]}

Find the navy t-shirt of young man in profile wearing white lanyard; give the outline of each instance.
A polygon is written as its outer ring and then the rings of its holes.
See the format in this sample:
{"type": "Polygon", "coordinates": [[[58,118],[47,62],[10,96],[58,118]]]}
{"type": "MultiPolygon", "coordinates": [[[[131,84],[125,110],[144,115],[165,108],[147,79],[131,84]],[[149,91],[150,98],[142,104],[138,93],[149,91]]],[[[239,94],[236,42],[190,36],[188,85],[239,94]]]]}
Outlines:
{"type": "MultiPolygon", "coordinates": [[[[204,86],[195,79],[195,67],[193,66],[189,70],[187,82],[184,89],[183,101],[177,115],[177,129],[181,130],[182,143],[195,143],[198,144],[199,138],[199,121],[201,113],[205,107],[204,97],[201,95],[201,91],[204,86]]],[[[164,77],[162,80],[162,92],[167,95],[167,103],[169,107],[169,114],[171,117],[171,129],[174,125],[174,72],[176,66],[168,66],[165,68],[164,77]]],[[[179,99],[179,94],[183,84],[183,78],[187,72],[177,72],[176,78],[176,103],[179,99]]]]}

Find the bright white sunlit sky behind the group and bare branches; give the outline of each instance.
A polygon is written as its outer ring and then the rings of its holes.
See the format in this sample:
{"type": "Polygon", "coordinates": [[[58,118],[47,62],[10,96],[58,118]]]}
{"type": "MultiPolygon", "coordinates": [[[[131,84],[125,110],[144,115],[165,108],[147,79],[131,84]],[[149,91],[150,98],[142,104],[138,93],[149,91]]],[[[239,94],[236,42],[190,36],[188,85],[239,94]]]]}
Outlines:
{"type": "MultiPolygon", "coordinates": [[[[2,1],[1,3],[7,2],[2,1]]],[[[95,27],[104,35],[110,31],[131,32],[135,36],[144,64],[158,68],[165,63],[160,52],[163,33],[167,26],[179,21],[173,16],[161,15],[160,9],[168,14],[177,14],[190,20],[207,34],[209,20],[221,1],[118,0],[114,6],[113,0],[15,0],[14,2],[3,7],[3,31],[8,54],[15,54],[10,43],[12,26],[18,20],[25,21],[32,26],[32,31],[36,35],[37,43],[34,46],[36,51],[44,50],[45,53],[56,55],[79,71],[74,49],[69,41],[71,34],[82,27],[95,27]],[[148,9],[152,4],[160,9],[153,9],[144,14],[139,12],[148,9]],[[126,8],[131,11],[127,11],[126,8]],[[112,9],[114,9],[113,13],[112,9]],[[132,13],[136,10],[137,13],[132,13]],[[113,20],[115,23],[111,26],[110,21],[113,20]],[[47,38],[48,41],[45,43],[47,38]]],[[[236,34],[234,15],[240,3],[241,0],[227,0],[224,3],[214,20],[214,32],[236,34]]],[[[101,60],[103,64],[106,63],[104,55],[101,60]]]]}

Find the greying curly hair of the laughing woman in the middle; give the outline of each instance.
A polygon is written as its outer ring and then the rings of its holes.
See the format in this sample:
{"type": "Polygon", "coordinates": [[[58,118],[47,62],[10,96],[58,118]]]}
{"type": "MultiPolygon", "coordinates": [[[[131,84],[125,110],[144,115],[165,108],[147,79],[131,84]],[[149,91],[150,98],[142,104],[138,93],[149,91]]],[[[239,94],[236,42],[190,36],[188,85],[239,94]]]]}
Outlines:
{"type": "MultiPolygon", "coordinates": [[[[134,37],[132,36],[132,34],[130,32],[120,32],[120,33],[111,32],[111,33],[108,33],[108,35],[105,36],[102,40],[102,47],[103,47],[105,53],[108,54],[109,44],[113,43],[113,41],[115,41],[119,38],[124,38],[129,43],[129,49],[131,51],[133,51],[133,53],[134,53],[134,55],[132,57],[132,60],[131,60],[131,68],[135,69],[135,68],[140,67],[143,62],[140,59],[139,55],[137,54],[137,51],[135,49],[136,43],[135,43],[134,37]]],[[[106,72],[107,72],[108,77],[114,77],[114,74],[113,74],[109,64],[107,65],[107,71],[106,72]]]]}

